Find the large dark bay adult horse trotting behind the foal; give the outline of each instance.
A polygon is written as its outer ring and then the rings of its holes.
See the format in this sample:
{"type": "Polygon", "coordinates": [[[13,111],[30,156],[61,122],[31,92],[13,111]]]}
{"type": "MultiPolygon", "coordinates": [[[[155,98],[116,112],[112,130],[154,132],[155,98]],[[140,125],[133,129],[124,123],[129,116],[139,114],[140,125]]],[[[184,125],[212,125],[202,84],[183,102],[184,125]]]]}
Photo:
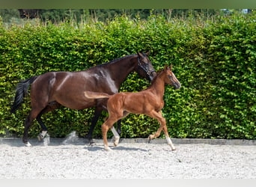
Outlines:
{"type": "MultiPolygon", "coordinates": [[[[27,93],[29,85],[31,85],[31,111],[25,120],[23,143],[28,147],[31,146],[28,142],[28,129],[34,119],[37,119],[42,129],[38,137],[44,138],[47,128],[41,119],[42,114],[55,110],[61,105],[77,110],[95,107],[94,117],[91,120],[91,127],[88,132],[88,139],[91,142],[94,126],[101,112],[106,109],[107,99],[99,99],[97,101],[87,99],[84,91],[103,92],[110,95],[118,93],[121,83],[132,71],[151,81],[156,76],[156,72],[147,55],[143,52],[138,52],[138,54],[127,55],[109,63],[91,67],[88,70],[49,72],[40,76],[32,76],[30,79],[19,82],[11,107],[12,113],[22,104],[22,99],[27,93]]],[[[118,128],[121,132],[120,123],[118,128]]]]}

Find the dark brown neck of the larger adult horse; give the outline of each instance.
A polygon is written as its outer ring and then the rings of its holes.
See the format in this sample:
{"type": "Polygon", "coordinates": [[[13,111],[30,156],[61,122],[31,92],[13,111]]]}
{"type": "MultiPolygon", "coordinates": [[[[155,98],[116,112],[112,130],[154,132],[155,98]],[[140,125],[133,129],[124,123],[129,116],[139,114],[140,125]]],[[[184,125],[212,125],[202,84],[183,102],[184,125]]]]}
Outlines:
{"type": "Polygon", "coordinates": [[[132,62],[132,58],[134,58],[134,56],[129,55],[106,65],[106,70],[109,70],[109,74],[118,88],[120,88],[121,83],[127,79],[129,73],[134,70],[135,63],[132,62]]]}

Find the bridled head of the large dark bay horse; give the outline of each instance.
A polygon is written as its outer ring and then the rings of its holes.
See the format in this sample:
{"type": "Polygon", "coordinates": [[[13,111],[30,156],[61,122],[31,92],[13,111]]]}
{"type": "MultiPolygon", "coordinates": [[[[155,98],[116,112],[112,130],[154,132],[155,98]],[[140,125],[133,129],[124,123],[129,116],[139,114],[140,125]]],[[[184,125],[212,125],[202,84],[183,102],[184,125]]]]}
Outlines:
{"type": "Polygon", "coordinates": [[[139,76],[144,77],[149,81],[152,81],[153,78],[156,76],[156,70],[153,69],[153,65],[147,57],[147,55],[149,55],[149,52],[138,52],[137,54],[138,65],[135,67],[135,71],[138,73],[139,76]]]}

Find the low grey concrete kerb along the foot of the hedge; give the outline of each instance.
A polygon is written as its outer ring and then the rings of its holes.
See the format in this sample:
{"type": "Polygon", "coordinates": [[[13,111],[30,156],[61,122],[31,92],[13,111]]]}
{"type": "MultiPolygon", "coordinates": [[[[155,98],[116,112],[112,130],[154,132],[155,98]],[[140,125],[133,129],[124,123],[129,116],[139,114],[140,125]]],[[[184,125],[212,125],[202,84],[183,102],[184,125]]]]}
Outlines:
{"type": "MultiPolygon", "coordinates": [[[[64,144],[65,138],[50,138],[50,144],[64,144]]],[[[29,139],[31,144],[42,144],[42,141],[38,141],[36,138],[29,139]]],[[[213,145],[240,145],[240,146],[255,146],[256,140],[245,139],[203,139],[203,138],[171,138],[174,144],[213,144],[213,145]]],[[[66,141],[67,142],[67,141],[66,141]]],[[[95,144],[103,144],[103,139],[94,139],[95,144]]],[[[112,142],[109,139],[109,142],[112,142]]],[[[88,139],[77,138],[70,140],[67,144],[88,144],[88,139]]],[[[147,138],[121,138],[120,144],[147,144],[147,138]]],[[[0,138],[0,144],[16,144],[22,145],[21,138],[0,138]]],[[[156,138],[150,141],[150,144],[166,144],[165,138],[156,138]]]]}

